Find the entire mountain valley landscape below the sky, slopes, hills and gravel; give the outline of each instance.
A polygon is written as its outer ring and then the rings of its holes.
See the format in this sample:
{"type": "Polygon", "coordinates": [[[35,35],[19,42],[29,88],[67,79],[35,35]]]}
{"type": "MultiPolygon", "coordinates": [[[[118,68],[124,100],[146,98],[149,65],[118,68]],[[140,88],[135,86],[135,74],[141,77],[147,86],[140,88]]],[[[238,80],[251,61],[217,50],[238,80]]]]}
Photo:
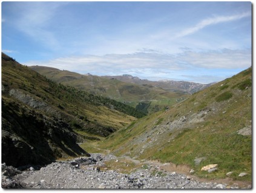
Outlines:
{"type": "Polygon", "coordinates": [[[28,68],[2,53],[2,187],[250,189],[252,68],[180,84],[28,68]],[[87,183],[65,186],[50,168],[87,183]]]}

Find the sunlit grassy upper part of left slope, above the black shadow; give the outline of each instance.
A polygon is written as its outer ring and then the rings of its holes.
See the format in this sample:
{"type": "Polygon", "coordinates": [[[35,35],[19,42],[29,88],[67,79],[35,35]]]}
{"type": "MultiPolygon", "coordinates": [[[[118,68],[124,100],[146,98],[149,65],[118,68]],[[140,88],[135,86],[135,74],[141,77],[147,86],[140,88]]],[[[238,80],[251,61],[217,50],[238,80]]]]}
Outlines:
{"type": "MultiPolygon", "coordinates": [[[[7,55],[2,54],[2,57],[7,55]]],[[[44,101],[61,112],[62,118],[73,129],[84,131],[88,136],[107,136],[136,119],[115,110],[114,105],[124,106],[122,103],[115,104],[108,99],[54,83],[12,60],[2,60],[2,85],[7,96],[8,90],[19,89],[36,100],[44,101]]]]}

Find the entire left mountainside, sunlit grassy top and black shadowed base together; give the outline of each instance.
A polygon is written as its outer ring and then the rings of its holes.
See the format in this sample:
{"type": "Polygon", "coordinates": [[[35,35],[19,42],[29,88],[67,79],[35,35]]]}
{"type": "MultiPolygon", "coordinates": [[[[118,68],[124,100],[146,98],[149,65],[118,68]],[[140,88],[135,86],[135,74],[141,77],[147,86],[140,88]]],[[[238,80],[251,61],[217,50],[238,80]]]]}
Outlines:
{"type": "Polygon", "coordinates": [[[101,139],[145,116],[126,104],[48,80],[4,53],[1,115],[2,163],[12,166],[90,156],[77,142],[101,139]]]}

